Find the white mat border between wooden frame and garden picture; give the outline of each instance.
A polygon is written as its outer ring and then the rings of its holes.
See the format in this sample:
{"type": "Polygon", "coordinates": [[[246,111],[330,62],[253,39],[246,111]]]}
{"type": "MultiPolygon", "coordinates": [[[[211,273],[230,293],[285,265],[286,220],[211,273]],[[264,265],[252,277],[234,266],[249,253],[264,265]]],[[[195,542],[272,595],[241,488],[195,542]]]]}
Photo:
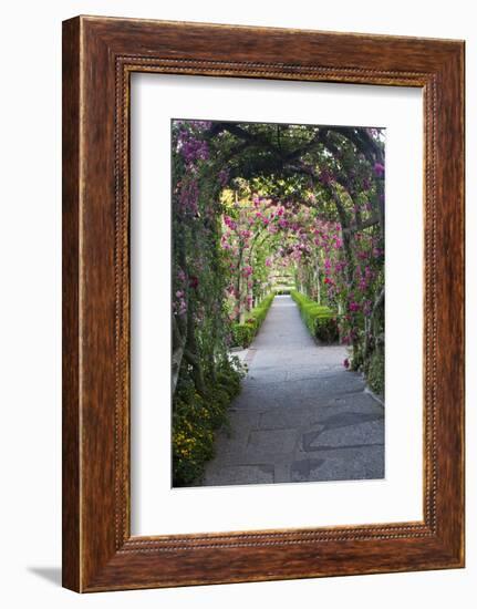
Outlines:
{"type": "Polygon", "coordinates": [[[135,74],[132,83],[133,534],[421,520],[424,218],[416,202],[423,192],[422,91],[165,74],[135,74]],[[170,116],[310,124],[317,107],[323,124],[386,126],[386,370],[392,373],[386,374],[385,479],[172,489],[164,390],[170,337],[163,322],[170,308],[170,218],[158,205],[170,196],[170,116]],[[404,250],[400,231],[393,230],[400,225],[406,227],[404,250]]]}

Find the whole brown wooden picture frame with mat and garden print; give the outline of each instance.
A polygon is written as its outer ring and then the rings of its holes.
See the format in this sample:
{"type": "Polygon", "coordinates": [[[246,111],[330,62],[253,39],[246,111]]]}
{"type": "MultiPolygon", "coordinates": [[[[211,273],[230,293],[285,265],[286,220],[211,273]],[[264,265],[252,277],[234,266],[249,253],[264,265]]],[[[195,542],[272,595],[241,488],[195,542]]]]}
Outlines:
{"type": "Polygon", "coordinates": [[[464,566],[464,43],[63,23],[63,585],[464,566]]]}

